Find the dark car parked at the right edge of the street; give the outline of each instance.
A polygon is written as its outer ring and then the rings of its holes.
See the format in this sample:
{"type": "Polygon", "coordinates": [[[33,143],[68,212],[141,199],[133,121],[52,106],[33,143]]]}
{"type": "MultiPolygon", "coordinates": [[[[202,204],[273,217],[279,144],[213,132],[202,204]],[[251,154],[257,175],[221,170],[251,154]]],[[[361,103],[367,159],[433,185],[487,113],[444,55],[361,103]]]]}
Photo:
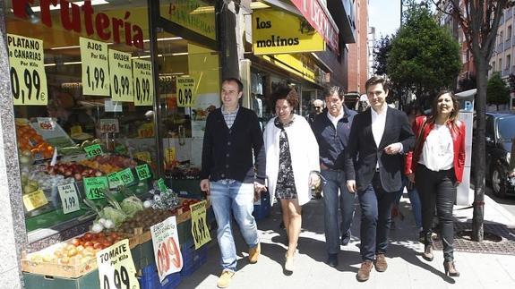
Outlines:
{"type": "Polygon", "coordinates": [[[494,195],[504,198],[515,195],[515,177],[510,177],[511,144],[515,137],[515,114],[486,113],[486,171],[494,195]]]}

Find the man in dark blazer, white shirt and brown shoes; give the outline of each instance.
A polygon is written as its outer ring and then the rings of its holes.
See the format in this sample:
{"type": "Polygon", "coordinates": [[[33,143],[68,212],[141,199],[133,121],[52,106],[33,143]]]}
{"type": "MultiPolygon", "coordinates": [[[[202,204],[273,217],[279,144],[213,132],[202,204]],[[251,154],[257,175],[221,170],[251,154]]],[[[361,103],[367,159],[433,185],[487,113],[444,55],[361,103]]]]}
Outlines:
{"type": "Polygon", "coordinates": [[[365,83],[370,106],[354,117],[346,149],[348,191],[357,192],[361,206],[361,257],[358,281],[366,281],[373,265],[378,272],[388,267],[391,204],[402,180],[404,151],[415,137],[408,116],[388,107],[388,82],[373,76],[365,83]]]}

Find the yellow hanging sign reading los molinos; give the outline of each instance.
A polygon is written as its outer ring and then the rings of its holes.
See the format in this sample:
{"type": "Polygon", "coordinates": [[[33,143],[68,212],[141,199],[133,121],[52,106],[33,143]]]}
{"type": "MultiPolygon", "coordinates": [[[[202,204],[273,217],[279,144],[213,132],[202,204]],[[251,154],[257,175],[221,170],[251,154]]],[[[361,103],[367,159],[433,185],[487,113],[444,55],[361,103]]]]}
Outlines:
{"type": "Polygon", "coordinates": [[[253,12],[254,55],[323,50],[322,37],[303,18],[270,9],[253,12]]]}

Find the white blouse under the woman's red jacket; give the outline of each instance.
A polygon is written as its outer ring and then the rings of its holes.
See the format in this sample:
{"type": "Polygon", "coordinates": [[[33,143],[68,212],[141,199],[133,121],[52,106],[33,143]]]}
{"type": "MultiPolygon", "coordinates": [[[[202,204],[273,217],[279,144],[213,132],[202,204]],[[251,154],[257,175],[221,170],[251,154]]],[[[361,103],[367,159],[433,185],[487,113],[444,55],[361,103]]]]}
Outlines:
{"type": "Polygon", "coordinates": [[[454,166],[454,146],[449,127],[434,124],[424,142],[419,164],[438,172],[451,169],[454,166]]]}

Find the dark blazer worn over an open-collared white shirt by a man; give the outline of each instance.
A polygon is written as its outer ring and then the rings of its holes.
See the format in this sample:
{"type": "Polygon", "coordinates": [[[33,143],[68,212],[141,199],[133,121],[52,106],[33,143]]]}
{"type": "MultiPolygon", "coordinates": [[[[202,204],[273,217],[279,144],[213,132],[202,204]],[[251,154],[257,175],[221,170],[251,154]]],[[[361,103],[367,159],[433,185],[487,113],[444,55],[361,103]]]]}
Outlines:
{"type": "Polygon", "coordinates": [[[372,113],[369,107],[354,117],[346,151],[345,173],[348,180],[356,180],[357,191],[365,191],[372,183],[378,158],[381,159],[379,174],[384,191],[399,191],[402,186],[403,154],[388,155],[384,148],[395,142],[402,143],[407,152],[415,143],[415,136],[408,122],[408,115],[388,107],[384,133],[375,145],[372,133],[372,113]]]}

